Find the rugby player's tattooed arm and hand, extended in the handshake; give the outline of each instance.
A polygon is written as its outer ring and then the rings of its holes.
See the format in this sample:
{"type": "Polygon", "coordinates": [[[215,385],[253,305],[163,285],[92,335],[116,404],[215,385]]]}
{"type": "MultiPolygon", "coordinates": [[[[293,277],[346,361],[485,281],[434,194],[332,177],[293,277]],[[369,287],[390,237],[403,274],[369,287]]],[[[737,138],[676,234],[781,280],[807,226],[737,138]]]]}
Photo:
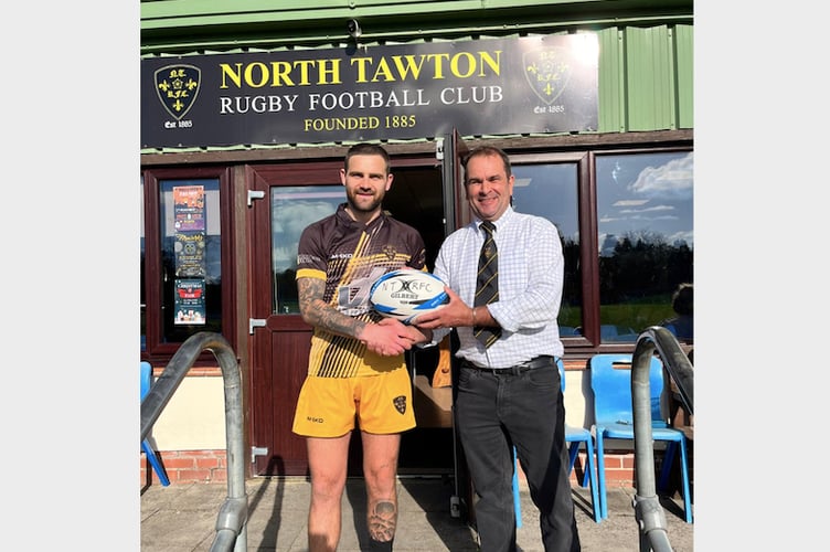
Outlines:
{"type": "Polygon", "coordinates": [[[318,278],[298,278],[300,315],[306,323],[354,338],[366,348],[381,355],[394,357],[409,350],[422,332],[408,328],[397,320],[384,319],[381,323],[368,323],[345,316],[323,301],[326,283],[318,278]],[[389,320],[389,321],[387,321],[389,320]],[[415,331],[415,333],[414,333],[415,331]]]}

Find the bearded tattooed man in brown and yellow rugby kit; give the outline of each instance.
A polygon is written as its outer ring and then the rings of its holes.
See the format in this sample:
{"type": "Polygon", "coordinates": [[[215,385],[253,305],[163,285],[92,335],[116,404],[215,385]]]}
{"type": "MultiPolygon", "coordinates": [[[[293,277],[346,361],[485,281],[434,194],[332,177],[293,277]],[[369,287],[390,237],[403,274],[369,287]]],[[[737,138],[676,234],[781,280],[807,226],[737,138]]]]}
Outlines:
{"type": "Polygon", "coordinates": [[[334,551],[340,540],[355,415],[363,443],[370,550],[391,551],[395,537],[401,432],[415,427],[403,353],[428,341],[432,332],[382,318],[369,304],[379,276],[404,267],[426,269],[418,232],[382,211],[392,179],[382,147],[352,146],[340,170],[347,203],[310,224],[299,241],[300,312],[315,328],[294,417],[294,433],[305,436],[308,447],[310,552],[334,551]]]}

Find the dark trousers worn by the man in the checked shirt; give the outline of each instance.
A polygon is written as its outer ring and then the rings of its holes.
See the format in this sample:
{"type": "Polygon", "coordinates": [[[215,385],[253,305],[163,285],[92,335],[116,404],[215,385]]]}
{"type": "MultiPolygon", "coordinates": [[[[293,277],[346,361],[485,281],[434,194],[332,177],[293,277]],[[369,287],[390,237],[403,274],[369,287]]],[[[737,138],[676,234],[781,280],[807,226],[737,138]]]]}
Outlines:
{"type": "Polygon", "coordinates": [[[515,551],[513,445],[540,511],[545,551],[581,550],[556,365],[493,374],[464,362],[455,407],[478,495],[475,510],[481,552],[515,551]]]}

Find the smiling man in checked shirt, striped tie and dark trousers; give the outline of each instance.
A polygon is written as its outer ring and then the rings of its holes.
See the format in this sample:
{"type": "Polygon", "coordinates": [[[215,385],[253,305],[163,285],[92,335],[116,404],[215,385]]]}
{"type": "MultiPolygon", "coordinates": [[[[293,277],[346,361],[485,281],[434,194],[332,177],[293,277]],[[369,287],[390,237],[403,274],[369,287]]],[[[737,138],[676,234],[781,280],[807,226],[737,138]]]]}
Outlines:
{"type": "Polygon", "coordinates": [[[479,498],[480,550],[515,550],[515,446],[540,510],[545,551],[578,551],[556,368],[564,352],[556,322],[562,243],[549,220],[513,211],[514,177],[502,150],[476,148],[464,166],[475,220],[447,237],[434,270],[447,284],[450,302],[416,323],[435,330],[433,343],[449,328],[458,333],[456,422],[479,498]],[[479,275],[487,282],[479,285],[479,275]],[[494,279],[497,286],[488,289],[494,279]]]}

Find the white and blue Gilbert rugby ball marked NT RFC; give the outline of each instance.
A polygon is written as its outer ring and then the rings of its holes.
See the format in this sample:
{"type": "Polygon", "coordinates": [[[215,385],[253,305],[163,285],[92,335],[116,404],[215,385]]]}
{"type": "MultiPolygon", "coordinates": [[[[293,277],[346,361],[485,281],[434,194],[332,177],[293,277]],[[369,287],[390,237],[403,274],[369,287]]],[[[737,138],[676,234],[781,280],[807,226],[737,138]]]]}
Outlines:
{"type": "Polygon", "coordinates": [[[444,282],[429,273],[400,269],[377,278],[369,291],[372,307],[382,316],[411,323],[415,317],[449,302],[444,282]]]}

